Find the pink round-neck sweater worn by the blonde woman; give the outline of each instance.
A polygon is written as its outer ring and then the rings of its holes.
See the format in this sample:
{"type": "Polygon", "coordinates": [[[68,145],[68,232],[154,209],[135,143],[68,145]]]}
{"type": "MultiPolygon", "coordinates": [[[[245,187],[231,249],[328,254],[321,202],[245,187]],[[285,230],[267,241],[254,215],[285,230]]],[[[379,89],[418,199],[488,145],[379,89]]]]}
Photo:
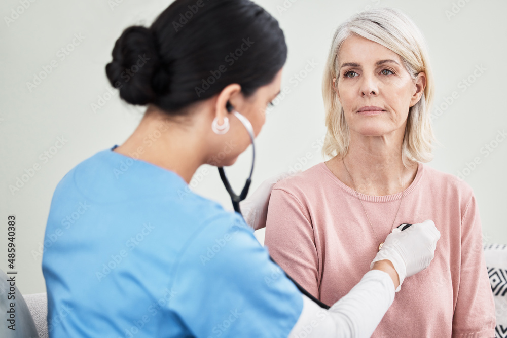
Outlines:
{"type": "MultiPolygon", "coordinates": [[[[394,227],[431,219],[441,238],[429,267],[405,279],[372,337],[494,337],[495,307],[472,188],[419,164],[403,194],[394,227]]],[[[383,241],[402,193],[359,196],[383,241]]],[[[379,243],[355,191],[322,162],[274,186],[265,245],[298,283],[333,305],[370,270],[379,243]]]]}

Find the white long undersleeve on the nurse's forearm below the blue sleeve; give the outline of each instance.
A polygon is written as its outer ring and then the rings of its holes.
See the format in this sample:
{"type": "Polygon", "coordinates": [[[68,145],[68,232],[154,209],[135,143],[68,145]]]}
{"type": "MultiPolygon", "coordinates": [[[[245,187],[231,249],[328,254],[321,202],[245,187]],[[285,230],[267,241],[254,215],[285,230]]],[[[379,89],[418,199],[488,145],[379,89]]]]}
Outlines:
{"type": "Polygon", "coordinates": [[[389,274],[371,270],[329,310],[303,295],[303,311],[289,337],[370,337],[393,301],[389,274]]]}

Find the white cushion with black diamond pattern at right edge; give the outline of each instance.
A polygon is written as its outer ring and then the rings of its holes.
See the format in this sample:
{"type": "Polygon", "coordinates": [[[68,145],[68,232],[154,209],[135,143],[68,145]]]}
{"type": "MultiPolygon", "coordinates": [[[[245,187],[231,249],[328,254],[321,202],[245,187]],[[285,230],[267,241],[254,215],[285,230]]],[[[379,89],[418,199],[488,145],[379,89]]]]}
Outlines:
{"type": "Polygon", "coordinates": [[[495,298],[496,336],[507,338],[507,245],[486,245],[484,257],[495,298]]]}

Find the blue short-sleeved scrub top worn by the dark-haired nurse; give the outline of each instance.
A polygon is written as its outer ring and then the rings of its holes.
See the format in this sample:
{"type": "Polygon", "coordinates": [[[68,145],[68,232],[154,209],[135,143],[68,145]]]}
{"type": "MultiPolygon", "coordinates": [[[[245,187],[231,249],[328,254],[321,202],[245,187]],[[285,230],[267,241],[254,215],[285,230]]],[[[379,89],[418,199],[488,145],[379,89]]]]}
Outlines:
{"type": "Polygon", "coordinates": [[[50,337],[285,337],[303,299],[243,218],[105,149],[51,201],[50,337]]]}

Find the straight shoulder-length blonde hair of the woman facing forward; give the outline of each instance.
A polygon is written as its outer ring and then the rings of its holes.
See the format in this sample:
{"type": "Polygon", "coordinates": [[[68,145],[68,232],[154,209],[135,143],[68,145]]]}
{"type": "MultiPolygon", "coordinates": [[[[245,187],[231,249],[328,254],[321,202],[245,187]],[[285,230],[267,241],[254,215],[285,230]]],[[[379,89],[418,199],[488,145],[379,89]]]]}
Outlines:
{"type": "Polygon", "coordinates": [[[426,74],[426,88],[419,102],[409,109],[402,159],[404,165],[407,165],[407,160],[431,161],[432,142],[435,141],[430,116],[434,84],[426,42],[415,23],[406,14],[392,8],[379,8],[356,14],[341,24],[335,32],[322,80],[325,126],[328,128],[322,155],[343,157],[348,151],[350,132],[343,107],[333,87],[333,79],[338,81],[339,78],[340,47],[345,39],[354,33],[400,55],[414,81],[418,73],[426,74]]]}

